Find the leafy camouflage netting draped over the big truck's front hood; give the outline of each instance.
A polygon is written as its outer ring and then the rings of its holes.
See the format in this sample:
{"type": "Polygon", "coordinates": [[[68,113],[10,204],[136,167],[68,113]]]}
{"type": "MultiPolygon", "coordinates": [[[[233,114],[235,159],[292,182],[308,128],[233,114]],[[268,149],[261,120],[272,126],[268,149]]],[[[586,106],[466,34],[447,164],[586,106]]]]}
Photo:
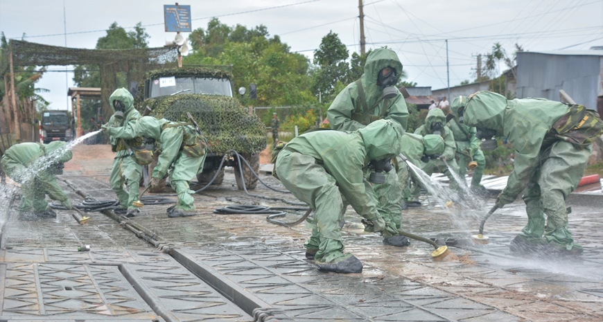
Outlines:
{"type": "Polygon", "coordinates": [[[141,107],[150,107],[151,116],[186,122],[190,111],[207,138],[209,149],[222,154],[234,149],[239,153],[259,153],[266,146],[263,123],[249,114],[228,96],[187,94],[145,100],[141,107]]]}

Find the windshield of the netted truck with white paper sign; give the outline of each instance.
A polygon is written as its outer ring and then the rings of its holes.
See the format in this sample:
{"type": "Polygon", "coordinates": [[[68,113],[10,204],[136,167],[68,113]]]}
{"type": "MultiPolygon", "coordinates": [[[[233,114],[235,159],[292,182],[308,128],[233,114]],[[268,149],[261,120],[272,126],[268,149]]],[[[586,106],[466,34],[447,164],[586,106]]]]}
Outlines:
{"type": "Polygon", "coordinates": [[[191,93],[232,97],[227,78],[162,77],[151,81],[151,98],[191,93]]]}

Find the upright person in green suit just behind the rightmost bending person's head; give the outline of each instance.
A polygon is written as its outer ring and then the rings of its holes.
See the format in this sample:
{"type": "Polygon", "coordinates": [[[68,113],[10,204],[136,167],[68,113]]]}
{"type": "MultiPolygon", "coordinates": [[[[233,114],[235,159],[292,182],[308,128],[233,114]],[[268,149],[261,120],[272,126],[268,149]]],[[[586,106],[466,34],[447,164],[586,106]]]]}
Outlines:
{"type": "Polygon", "coordinates": [[[477,166],[473,170],[473,177],[471,177],[471,190],[473,193],[483,194],[485,193],[485,188],[480,182],[482,181],[482,175],[484,175],[484,168],[486,168],[486,158],[484,158],[484,152],[481,147],[482,141],[475,136],[475,127],[463,124],[466,102],[466,96],[459,96],[453,100],[451,111],[454,118],[448,120],[446,125],[452,129],[455,136],[460,177],[465,177],[469,163],[475,161],[477,166]]]}

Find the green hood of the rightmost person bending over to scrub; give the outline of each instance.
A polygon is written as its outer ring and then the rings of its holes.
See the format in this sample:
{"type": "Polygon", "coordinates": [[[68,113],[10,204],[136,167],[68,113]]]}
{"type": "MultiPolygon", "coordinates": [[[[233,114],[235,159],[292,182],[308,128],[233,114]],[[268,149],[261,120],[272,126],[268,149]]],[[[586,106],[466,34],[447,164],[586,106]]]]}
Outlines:
{"type": "Polygon", "coordinates": [[[467,126],[496,129],[502,134],[507,98],[491,91],[478,91],[469,96],[464,111],[467,126]]]}

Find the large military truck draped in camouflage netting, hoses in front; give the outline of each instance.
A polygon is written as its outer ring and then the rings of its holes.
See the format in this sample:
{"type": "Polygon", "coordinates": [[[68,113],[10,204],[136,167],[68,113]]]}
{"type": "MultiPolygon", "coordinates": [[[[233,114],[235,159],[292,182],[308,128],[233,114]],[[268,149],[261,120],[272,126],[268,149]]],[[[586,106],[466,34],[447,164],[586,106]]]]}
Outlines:
{"type": "MultiPolygon", "coordinates": [[[[200,184],[207,184],[216,173],[213,184],[222,183],[224,168],[220,172],[218,168],[226,155],[225,166],[234,167],[238,188],[243,189],[244,180],[247,189],[254,189],[257,178],[245,164],[241,165],[241,177],[231,150],[241,154],[258,173],[266,134],[259,118],[234,97],[230,69],[231,66],[197,66],[150,71],[137,87],[135,105],[141,114],[150,107],[150,116],[173,121],[187,122],[186,112],[191,113],[208,143],[203,172],[197,175],[200,184]]],[[[154,164],[148,167],[148,177],[154,164]]]]}

